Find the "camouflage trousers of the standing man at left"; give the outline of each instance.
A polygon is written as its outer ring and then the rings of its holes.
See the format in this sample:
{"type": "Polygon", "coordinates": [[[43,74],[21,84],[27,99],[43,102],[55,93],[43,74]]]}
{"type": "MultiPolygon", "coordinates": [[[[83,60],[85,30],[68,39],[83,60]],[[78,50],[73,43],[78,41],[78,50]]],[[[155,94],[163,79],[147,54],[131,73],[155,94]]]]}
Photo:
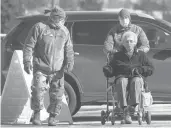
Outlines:
{"type": "Polygon", "coordinates": [[[31,86],[31,109],[34,111],[43,109],[44,95],[48,88],[50,105],[47,112],[59,115],[62,108],[62,96],[64,94],[64,77],[59,79],[55,75],[51,77],[51,81],[49,82],[48,76],[41,72],[34,73],[33,85],[31,86]]]}

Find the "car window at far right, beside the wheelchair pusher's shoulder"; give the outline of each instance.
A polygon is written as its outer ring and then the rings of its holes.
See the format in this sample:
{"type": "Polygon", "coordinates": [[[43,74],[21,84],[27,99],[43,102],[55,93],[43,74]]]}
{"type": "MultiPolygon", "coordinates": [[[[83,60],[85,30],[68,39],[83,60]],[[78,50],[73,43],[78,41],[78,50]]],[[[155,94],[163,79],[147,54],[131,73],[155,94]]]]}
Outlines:
{"type": "Polygon", "coordinates": [[[138,23],[144,30],[150,43],[151,48],[168,49],[171,48],[171,35],[163,30],[145,23],[138,23]]]}

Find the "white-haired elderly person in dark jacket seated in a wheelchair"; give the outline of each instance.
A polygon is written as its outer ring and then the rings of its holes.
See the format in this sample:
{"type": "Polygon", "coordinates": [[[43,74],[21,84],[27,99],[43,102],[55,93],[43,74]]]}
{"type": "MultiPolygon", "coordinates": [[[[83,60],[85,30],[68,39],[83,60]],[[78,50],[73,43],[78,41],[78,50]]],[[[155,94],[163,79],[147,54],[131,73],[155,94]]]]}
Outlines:
{"type": "Polygon", "coordinates": [[[115,76],[118,103],[124,111],[121,123],[130,124],[132,119],[127,109],[127,91],[130,96],[129,105],[135,108],[140,103],[141,89],[144,85],[143,77],[151,76],[154,67],[144,52],[137,52],[135,33],[125,32],[122,36],[122,45],[123,50],[116,52],[108,65],[111,68],[104,67],[103,72],[106,77],[115,76]]]}

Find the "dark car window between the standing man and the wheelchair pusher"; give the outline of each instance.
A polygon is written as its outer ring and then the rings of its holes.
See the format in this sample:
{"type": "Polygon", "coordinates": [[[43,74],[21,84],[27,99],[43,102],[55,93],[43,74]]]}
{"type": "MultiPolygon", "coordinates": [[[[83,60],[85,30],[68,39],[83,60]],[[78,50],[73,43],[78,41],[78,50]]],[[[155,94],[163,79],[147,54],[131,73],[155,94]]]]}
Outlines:
{"type": "Polygon", "coordinates": [[[107,33],[116,25],[114,21],[84,21],[73,26],[73,42],[75,44],[103,45],[107,33]]]}

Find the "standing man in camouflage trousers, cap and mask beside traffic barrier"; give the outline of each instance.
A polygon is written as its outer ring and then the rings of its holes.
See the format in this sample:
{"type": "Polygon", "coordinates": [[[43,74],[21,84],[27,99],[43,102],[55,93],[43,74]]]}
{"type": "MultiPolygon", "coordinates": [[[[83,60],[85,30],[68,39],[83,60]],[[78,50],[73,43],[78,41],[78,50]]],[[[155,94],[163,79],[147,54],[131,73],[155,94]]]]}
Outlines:
{"type": "Polygon", "coordinates": [[[64,69],[71,71],[74,65],[73,44],[70,33],[64,26],[66,14],[54,7],[46,22],[36,23],[30,30],[23,48],[24,70],[30,74],[33,67],[31,86],[32,123],[41,125],[40,110],[43,109],[44,94],[49,89],[49,126],[55,126],[56,115],[60,114],[64,94],[64,69]],[[33,61],[32,61],[33,58],[33,61]]]}

